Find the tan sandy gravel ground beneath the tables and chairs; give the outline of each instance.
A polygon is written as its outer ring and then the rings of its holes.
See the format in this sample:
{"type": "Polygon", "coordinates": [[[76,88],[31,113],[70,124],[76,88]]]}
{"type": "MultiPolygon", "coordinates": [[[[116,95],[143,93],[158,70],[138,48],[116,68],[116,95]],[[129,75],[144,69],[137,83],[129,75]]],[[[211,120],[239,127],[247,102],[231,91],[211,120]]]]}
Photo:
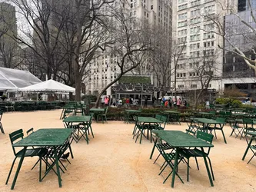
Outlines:
{"type": "MultiPolygon", "coordinates": [[[[9,184],[5,185],[14,158],[8,134],[19,128],[25,132],[30,127],[35,130],[64,127],[59,120],[60,113],[61,110],[55,110],[10,112],[3,115],[5,134],[0,134],[0,191],[10,191],[15,173],[13,171],[9,184]]],[[[256,191],[256,157],[251,164],[247,164],[251,157],[250,151],[245,161],[241,161],[247,144],[243,139],[229,137],[230,127],[224,127],[228,144],[224,144],[221,132],[218,132],[218,139],[213,141],[210,157],[214,168],[214,187],[210,186],[204,162],[199,159],[201,169],[197,170],[191,159],[190,181],[186,181],[186,165],[180,164],[179,174],[185,184],[176,178],[174,189],[171,188],[171,178],[162,184],[169,169],[158,176],[163,159],[159,159],[158,164],[153,164],[154,160],[149,159],[153,144],[145,137],[142,144],[136,144],[132,139],[133,127],[133,124],[121,121],[108,121],[108,124],[93,122],[95,138],[90,135],[89,144],[85,141],[72,143],[75,158],[69,158],[71,164],[68,164],[68,171],[62,174],[62,188],[58,187],[54,173],[38,182],[38,167],[31,170],[37,158],[25,158],[15,191],[256,191]]],[[[185,131],[186,127],[186,124],[168,124],[166,129],[185,131]]],[[[153,159],[157,155],[155,153],[153,159]]],[[[18,161],[14,170],[17,166],[18,161]]]]}

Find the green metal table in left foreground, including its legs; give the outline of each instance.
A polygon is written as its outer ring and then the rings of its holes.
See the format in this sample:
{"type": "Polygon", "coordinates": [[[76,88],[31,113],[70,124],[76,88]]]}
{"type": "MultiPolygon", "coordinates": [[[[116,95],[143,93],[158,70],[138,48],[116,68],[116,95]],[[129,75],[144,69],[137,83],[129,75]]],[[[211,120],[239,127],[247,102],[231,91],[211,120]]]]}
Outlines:
{"type": "MultiPolygon", "coordinates": [[[[48,129],[39,129],[38,131],[35,131],[33,134],[30,134],[28,137],[25,137],[21,141],[18,141],[17,143],[13,144],[13,147],[24,147],[24,153],[22,154],[22,157],[20,158],[20,161],[18,163],[18,168],[15,173],[15,178],[12,182],[12,187],[11,189],[13,190],[15,187],[15,183],[18,177],[19,170],[22,167],[22,162],[24,160],[25,156],[25,151],[27,147],[42,147],[42,146],[48,146],[48,147],[53,147],[54,152],[55,152],[55,164],[56,164],[56,169],[57,169],[57,174],[58,174],[58,185],[59,187],[62,187],[62,178],[61,174],[59,171],[59,166],[58,166],[58,155],[57,155],[57,150],[56,147],[62,146],[62,144],[65,143],[65,141],[70,137],[71,135],[71,129],[63,129],[63,128],[48,128],[48,129]]],[[[69,150],[71,152],[71,147],[69,146],[69,150]]],[[[73,157],[73,154],[71,152],[71,156],[73,157]]],[[[52,166],[54,166],[53,164],[52,166]]],[[[51,169],[49,168],[45,176],[48,174],[48,172],[51,169]]],[[[39,173],[41,174],[41,173],[39,173]]],[[[44,177],[45,177],[44,176],[44,177]]]]}

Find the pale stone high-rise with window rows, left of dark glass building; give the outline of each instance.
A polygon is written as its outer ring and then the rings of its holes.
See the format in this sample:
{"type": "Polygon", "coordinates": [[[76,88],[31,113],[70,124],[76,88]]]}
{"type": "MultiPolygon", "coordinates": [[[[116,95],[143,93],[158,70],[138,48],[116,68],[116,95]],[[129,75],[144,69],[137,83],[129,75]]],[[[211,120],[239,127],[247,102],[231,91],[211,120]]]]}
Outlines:
{"type": "MultiPolygon", "coordinates": [[[[233,5],[232,1],[213,0],[175,0],[173,4],[173,12],[177,13],[173,19],[174,37],[177,38],[174,46],[184,46],[178,65],[172,64],[172,68],[176,68],[177,91],[201,89],[199,80],[204,74],[198,72],[198,66],[205,61],[214,67],[211,72],[214,78],[208,89],[221,90],[223,53],[218,45],[222,46],[223,40],[213,32],[218,28],[210,19],[218,17],[218,22],[223,22],[224,15],[228,14],[222,11],[220,2],[224,7],[233,5]]],[[[175,81],[175,75],[171,81],[175,81]]]]}

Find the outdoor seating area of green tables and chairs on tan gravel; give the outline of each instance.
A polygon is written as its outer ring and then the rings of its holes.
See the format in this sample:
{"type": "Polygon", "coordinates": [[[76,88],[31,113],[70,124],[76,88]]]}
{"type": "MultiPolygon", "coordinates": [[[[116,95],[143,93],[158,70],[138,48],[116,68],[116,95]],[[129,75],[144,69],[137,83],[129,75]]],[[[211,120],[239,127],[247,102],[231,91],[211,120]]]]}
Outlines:
{"type": "Polygon", "coordinates": [[[154,118],[138,114],[133,115],[134,124],[103,124],[92,121],[92,111],[76,116],[74,112],[62,120],[62,109],[5,113],[0,191],[43,191],[49,185],[53,191],[59,187],[65,191],[168,191],[171,187],[253,191],[256,187],[253,119],[236,121],[244,128],[242,137],[236,137],[238,131],[231,135],[233,129],[224,118],[194,117],[188,124],[170,124],[165,113],[154,118]]]}

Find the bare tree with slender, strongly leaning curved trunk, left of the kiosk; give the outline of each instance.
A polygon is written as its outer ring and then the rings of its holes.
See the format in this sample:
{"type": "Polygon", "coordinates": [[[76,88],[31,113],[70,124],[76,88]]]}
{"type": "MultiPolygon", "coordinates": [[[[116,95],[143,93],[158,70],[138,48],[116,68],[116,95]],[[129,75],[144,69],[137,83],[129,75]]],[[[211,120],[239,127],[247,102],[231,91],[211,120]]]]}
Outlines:
{"type": "Polygon", "coordinates": [[[115,84],[124,74],[145,64],[148,58],[148,51],[151,50],[150,28],[147,23],[141,24],[140,21],[128,15],[124,8],[111,8],[111,14],[115,18],[111,20],[112,28],[108,33],[114,38],[114,44],[108,45],[110,54],[117,59],[118,75],[103,88],[99,94],[95,107],[98,107],[101,94],[103,94],[112,84],[115,84]]]}

